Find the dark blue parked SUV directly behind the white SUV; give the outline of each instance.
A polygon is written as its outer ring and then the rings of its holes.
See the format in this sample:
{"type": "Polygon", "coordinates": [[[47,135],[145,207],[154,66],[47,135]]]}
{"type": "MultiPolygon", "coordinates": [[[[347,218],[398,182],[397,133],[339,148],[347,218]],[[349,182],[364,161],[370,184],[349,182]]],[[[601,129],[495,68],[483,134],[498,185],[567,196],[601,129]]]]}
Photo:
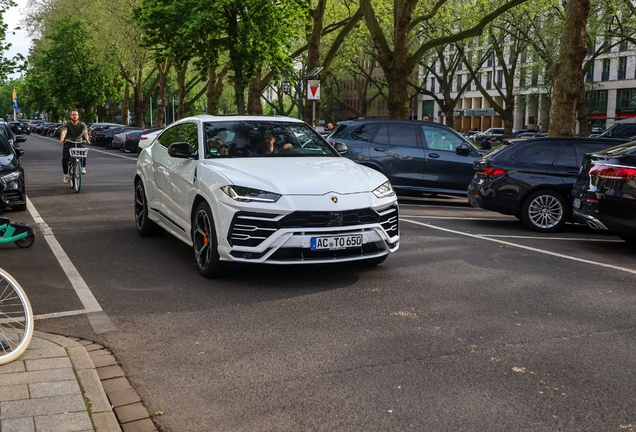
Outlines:
{"type": "Polygon", "coordinates": [[[327,138],[347,157],[386,175],[398,195],[466,195],[481,154],[453,129],[428,121],[359,119],[327,138]]]}

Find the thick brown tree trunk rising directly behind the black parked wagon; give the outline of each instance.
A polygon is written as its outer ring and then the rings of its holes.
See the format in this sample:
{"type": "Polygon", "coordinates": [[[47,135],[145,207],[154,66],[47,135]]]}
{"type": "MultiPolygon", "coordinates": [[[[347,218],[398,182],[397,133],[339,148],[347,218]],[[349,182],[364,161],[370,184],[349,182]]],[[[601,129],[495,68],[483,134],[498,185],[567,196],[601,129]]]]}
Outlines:
{"type": "Polygon", "coordinates": [[[587,54],[587,17],[590,0],[570,0],[559,57],[552,65],[552,109],[548,136],[574,136],[576,105],[583,91],[582,64],[587,54]]]}

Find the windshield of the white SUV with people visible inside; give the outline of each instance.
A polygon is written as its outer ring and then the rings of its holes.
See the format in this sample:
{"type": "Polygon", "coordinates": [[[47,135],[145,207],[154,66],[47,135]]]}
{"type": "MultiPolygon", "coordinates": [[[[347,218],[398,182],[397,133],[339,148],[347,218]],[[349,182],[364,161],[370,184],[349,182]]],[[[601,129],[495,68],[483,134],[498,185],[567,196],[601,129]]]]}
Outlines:
{"type": "Polygon", "coordinates": [[[305,123],[224,121],[205,123],[206,159],[340,155],[305,123]]]}

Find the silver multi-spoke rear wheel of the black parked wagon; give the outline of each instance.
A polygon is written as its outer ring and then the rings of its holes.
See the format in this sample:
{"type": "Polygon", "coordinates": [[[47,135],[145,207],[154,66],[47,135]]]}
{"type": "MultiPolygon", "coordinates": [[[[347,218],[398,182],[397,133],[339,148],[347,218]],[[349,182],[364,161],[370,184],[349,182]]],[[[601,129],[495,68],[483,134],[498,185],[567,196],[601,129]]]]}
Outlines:
{"type": "Polygon", "coordinates": [[[538,232],[557,232],[563,228],[569,215],[569,207],[558,192],[539,190],[523,202],[521,220],[538,232]]]}

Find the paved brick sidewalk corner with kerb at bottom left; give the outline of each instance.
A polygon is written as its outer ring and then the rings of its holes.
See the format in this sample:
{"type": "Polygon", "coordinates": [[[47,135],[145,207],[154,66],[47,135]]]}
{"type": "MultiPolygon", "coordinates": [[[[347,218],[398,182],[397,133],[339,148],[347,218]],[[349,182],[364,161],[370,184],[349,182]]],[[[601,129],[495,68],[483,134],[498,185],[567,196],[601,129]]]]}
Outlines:
{"type": "Polygon", "coordinates": [[[101,345],[36,331],[18,360],[0,366],[0,432],[122,429],[156,431],[115,358],[101,345]]]}

